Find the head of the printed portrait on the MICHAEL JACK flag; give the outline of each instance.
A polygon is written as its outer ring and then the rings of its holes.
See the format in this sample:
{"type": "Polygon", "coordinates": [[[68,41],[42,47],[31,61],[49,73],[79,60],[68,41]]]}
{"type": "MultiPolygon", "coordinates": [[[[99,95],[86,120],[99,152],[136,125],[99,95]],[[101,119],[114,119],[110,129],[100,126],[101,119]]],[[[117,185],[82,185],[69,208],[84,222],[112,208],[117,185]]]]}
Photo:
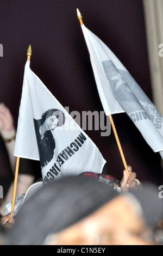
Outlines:
{"type": "Polygon", "coordinates": [[[49,109],[42,114],[41,124],[45,125],[47,131],[54,130],[65,124],[65,114],[59,109],[49,109]]]}

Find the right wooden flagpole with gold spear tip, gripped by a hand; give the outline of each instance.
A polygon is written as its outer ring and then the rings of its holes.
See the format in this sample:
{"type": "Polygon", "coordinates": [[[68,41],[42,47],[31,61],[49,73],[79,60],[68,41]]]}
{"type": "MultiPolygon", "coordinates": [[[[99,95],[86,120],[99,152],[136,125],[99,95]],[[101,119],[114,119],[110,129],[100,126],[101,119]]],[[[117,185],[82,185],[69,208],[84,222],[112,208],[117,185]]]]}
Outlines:
{"type": "MultiPolygon", "coordinates": [[[[82,15],[81,15],[81,13],[80,13],[78,8],[77,8],[77,15],[78,15],[78,19],[79,19],[80,25],[81,26],[84,25],[83,20],[82,20],[83,17],[82,17],[82,15]]],[[[111,123],[111,126],[112,126],[112,130],[114,131],[114,135],[115,135],[115,138],[116,138],[118,149],[119,149],[121,157],[122,157],[124,168],[126,169],[126,172],[127,172],[128,176],[129,176],[129,170],[127,169],[126,159],[124,157],[123,150],[122,150],[121,143],[120,143],[120,139],[118,138],[118,134],[117,134],[116,127],[115,127],[115,124],[114,124],[114,120],[112,119],[112,115],[111,114],[109,115],[109,118],[110,118],[110,123],[111,123]]]]}

